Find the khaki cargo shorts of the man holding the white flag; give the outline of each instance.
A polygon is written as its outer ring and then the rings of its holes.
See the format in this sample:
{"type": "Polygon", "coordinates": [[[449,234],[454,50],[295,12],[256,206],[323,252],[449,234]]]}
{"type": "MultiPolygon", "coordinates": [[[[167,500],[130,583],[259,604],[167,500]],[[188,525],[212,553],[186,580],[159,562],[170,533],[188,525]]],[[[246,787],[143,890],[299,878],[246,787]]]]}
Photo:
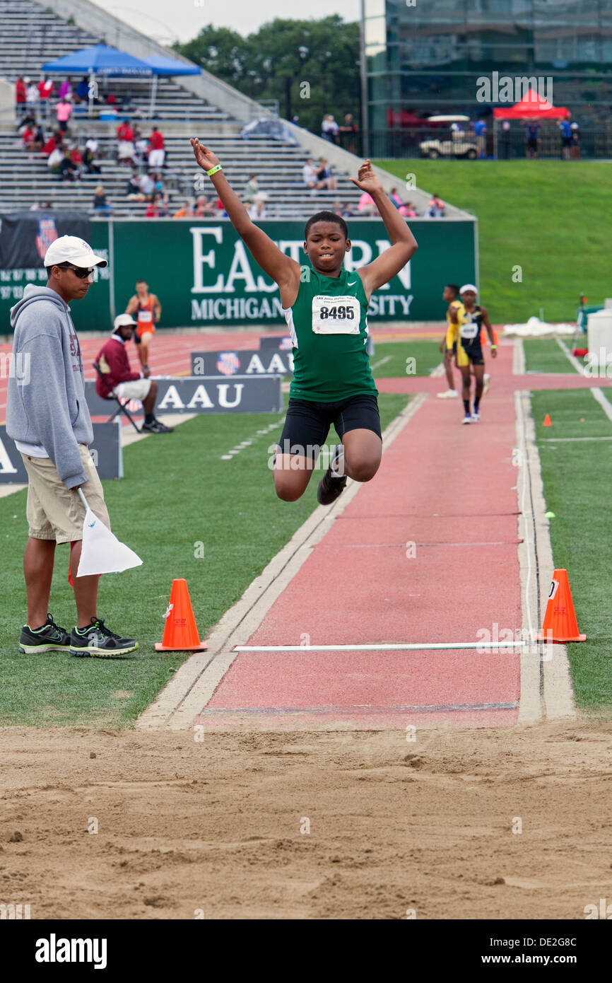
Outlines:
{"type": "MultiPolygon", "coordinates": [[[[79,444],[83,469],[88,481],[83,494],[94,515],[110,529],[104,492],[88,448],[79,444]]],[[[22,454],[28,472],[28,536],[32,540],[71,543],[83,539],[85,510],[79,492],[67,489],[50,457],[22,454]]]]}

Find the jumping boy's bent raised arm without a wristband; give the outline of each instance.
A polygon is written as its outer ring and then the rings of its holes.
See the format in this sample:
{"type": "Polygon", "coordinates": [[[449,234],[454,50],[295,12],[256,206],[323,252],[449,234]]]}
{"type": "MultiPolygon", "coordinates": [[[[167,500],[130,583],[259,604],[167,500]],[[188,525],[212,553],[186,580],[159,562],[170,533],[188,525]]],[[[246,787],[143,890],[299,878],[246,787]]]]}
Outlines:
{"type": "Polygon", "coordinates": [[[408,227],[406,219],[400,215],[393,202],[390,202],[385,194],[380,179],[374,174],[369,160],[364,161],[359,170],[358,178],[351,178],[353,184],[361,191],[367,192],[373,199],[380,217],[382,218],[385,229],[389,233],[391,246],[385,250],[376,260],[361,266],[358,269],[362,277],[365,296],[369,300],[370,294],[383,283],[388,283],[394,276],[404,268],[406,263],[417,252],[417,240],[408,227]]]}

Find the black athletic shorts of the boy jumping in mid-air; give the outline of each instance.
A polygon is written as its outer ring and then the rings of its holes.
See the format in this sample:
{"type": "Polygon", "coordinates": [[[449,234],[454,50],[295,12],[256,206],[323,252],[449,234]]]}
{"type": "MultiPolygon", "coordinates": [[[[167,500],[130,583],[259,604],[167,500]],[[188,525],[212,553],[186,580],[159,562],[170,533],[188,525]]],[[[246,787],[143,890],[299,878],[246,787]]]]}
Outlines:
{"type": "Polygon", "coordinates": [[[376,397],[361,393],[335,403],[291,398],[279,441],[280,453],[316,458],[332,424],[340,439],[352,430],[370,430],[381,436],[376,397]]]}

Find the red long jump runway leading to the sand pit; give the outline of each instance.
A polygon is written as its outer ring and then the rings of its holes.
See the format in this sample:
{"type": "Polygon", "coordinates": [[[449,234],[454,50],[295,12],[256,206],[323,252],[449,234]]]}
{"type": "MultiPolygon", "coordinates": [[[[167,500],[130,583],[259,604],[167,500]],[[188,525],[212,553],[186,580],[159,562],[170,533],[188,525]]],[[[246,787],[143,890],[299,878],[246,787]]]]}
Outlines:
{"type": "MultiPolygon", "coordinates": [[[[512,348],[505,346],[480,424],[461,425],[459,400],[425,400],[385,451],[375,479],[360,488],[245,640],[373,648],[240,652],[195,723],[215,729],[516,723],[516,652],[376,649],[385,642],[476,642],[483,637],[478,629],[495,637],[495,623],[500,632],[522,624],[514,387],[498,384],[511,373],[512,348]]],[[[315,479],[316,473],[312,485],[315,479]]]]}

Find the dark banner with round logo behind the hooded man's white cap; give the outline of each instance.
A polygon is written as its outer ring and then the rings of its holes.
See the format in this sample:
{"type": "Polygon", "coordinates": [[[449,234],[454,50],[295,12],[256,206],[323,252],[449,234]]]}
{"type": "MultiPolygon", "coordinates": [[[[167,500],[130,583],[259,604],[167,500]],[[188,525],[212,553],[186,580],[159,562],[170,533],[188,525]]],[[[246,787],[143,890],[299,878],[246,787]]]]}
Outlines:
{"type": "Polygon", "coordinates": [[[59,236],[79,236],[89,242],[86,214],[81,211],[1,213],[0,269],[42,269],[46,251],[59,236]]]}

